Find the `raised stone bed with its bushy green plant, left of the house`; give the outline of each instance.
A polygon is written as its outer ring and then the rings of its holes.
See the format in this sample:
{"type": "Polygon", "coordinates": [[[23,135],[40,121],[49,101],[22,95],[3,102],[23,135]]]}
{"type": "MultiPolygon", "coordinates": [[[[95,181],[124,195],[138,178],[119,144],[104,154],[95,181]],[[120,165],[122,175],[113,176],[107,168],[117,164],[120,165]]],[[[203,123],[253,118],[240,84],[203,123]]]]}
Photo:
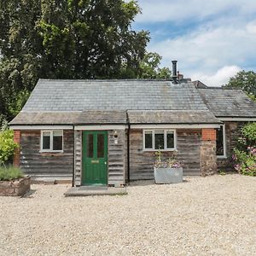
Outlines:
{"type": "Polygon", "coordinates": [[[0,166],[0,195],[24,195],[30,190],[30,184],[30,177],[25,176],[20,168],[0,166]]]}

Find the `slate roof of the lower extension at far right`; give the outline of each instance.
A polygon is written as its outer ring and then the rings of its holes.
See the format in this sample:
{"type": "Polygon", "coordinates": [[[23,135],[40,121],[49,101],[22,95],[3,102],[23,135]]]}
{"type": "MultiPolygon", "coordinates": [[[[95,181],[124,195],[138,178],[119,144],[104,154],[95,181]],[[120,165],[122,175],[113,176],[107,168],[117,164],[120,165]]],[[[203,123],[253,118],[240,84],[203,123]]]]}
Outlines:
{"type": "Polygon", "coordinates": [[[216,117],[256,117],[256,103],[242,90],[198,89],[216,117]]]}

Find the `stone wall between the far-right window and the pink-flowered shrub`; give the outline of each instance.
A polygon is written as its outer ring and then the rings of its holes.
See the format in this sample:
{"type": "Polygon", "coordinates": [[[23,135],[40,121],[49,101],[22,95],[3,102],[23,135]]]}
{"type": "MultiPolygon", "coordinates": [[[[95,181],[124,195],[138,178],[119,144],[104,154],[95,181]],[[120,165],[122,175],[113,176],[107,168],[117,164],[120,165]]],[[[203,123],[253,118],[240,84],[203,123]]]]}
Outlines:
{"type": "Polygon", "coordinates": [[[226,132],[226,154],[227,158],[217,158],[218,170],[233,171],[232,154],[234,148],[236,148],[237,139],[241,136],[241,128],[245,125],[245,122],[225,122],[226,132]]]}

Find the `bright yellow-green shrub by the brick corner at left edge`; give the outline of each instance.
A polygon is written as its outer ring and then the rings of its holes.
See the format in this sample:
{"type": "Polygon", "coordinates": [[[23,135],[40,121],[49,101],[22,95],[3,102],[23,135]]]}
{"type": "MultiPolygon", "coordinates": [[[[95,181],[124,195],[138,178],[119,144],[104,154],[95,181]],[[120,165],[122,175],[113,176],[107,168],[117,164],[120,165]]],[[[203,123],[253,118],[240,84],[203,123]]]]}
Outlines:
{"type": "Polygon", "coordinates": [[[14,131],[0,131],[0,165],[3,165],[15,154],[19,145],[14,142],[14,131]]]}

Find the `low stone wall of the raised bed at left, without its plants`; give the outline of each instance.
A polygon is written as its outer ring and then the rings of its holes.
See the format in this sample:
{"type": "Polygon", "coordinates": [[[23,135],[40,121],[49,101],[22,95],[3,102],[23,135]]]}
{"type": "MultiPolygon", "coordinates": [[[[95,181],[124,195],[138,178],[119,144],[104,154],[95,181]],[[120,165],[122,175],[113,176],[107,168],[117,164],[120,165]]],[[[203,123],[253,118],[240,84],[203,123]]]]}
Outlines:
{"type": "Polygon", "coordinates": [[[0,195],[19,196],[30,190],[30,177],[21,177],[12,181],[0,181],[0,195]]]}

